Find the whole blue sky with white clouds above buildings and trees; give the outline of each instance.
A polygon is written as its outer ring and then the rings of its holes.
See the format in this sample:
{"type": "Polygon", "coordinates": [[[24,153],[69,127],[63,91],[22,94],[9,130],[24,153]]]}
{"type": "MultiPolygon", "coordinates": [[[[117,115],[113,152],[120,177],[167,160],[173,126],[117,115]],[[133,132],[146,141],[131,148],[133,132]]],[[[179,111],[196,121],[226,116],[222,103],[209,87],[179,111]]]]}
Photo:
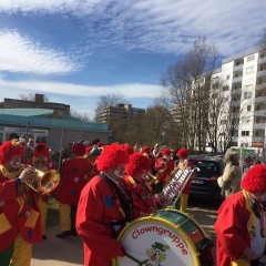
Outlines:
{"type": "Polygon", "coordinates": [[[44,93],[90,119],[101,95],[146,108],[205,35],[222,58],[256,45],[260,0],[1,0],[0,101],[44,93]]]}

